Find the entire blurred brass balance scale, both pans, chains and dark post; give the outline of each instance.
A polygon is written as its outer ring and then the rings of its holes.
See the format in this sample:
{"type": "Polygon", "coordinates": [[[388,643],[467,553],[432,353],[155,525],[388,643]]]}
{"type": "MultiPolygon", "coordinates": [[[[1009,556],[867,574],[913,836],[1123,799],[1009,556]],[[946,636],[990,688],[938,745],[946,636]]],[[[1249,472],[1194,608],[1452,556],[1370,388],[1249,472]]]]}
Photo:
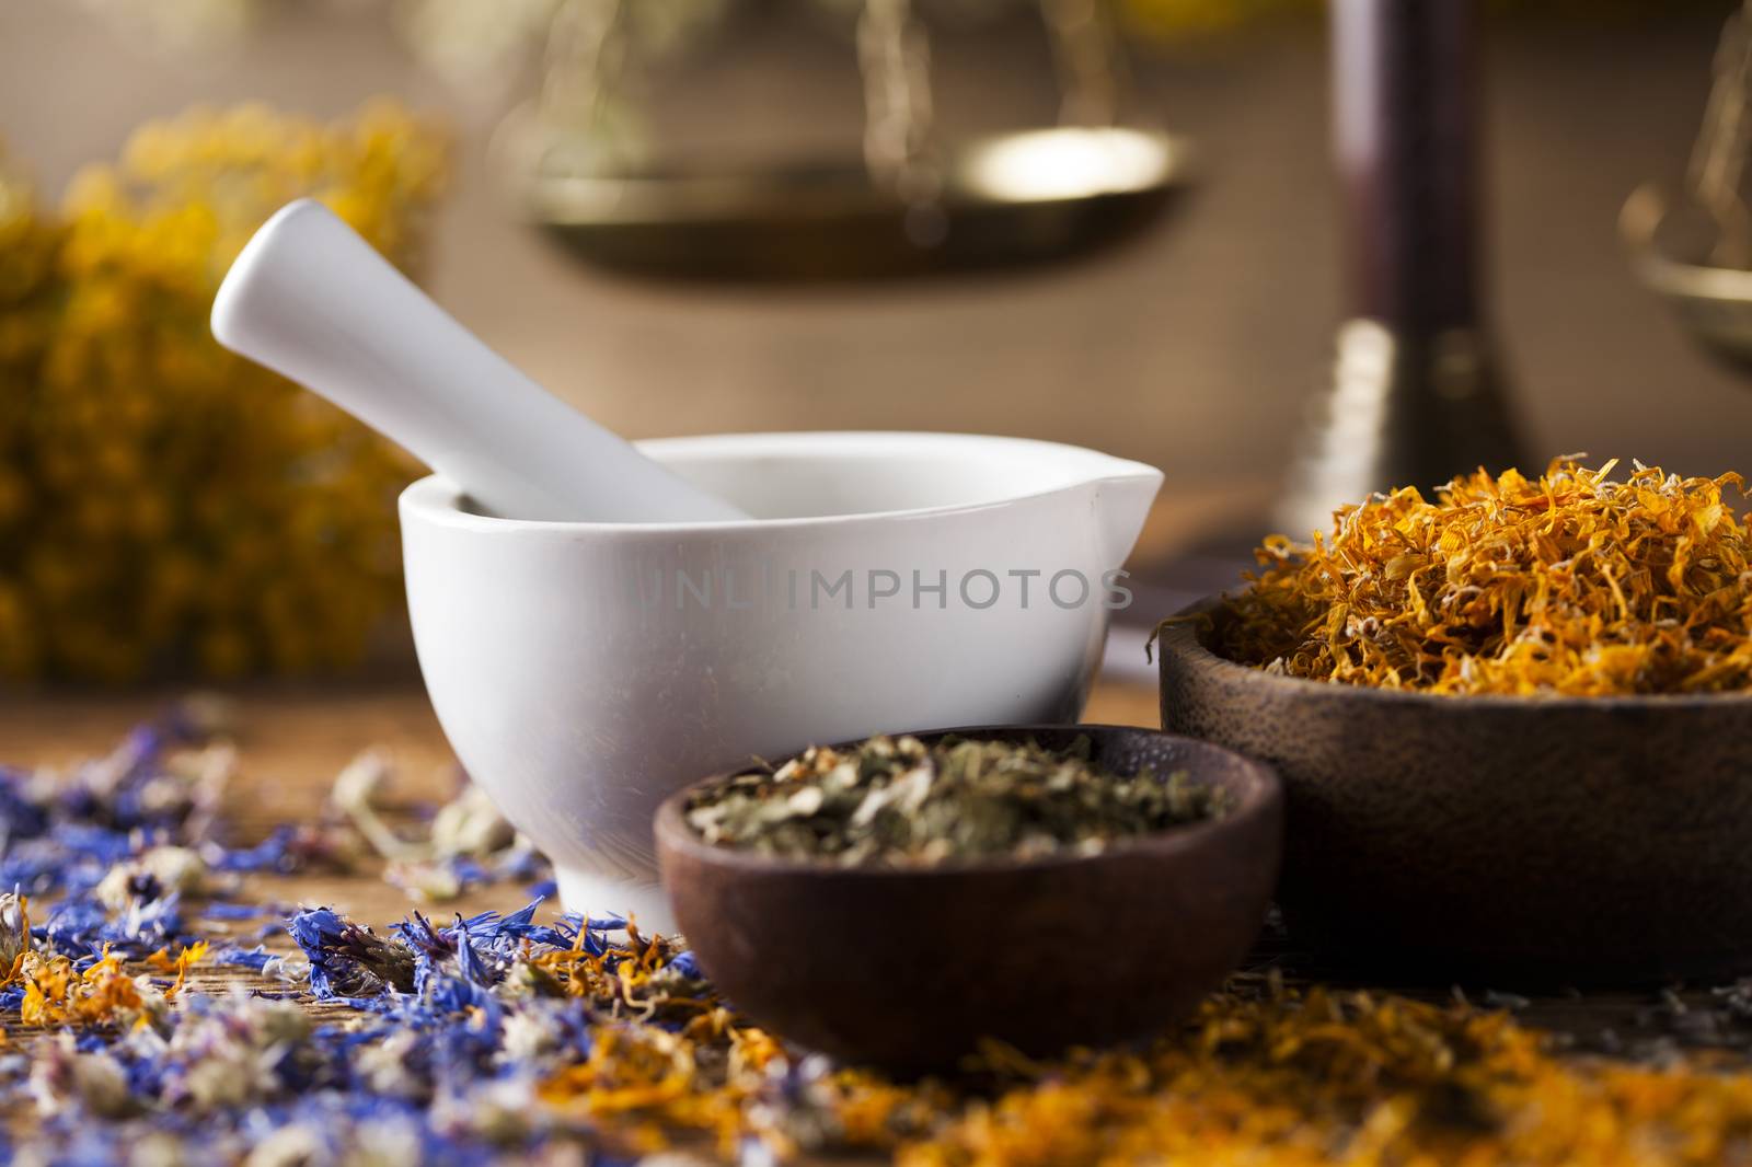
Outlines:
{"type": "MultiPolygon", "coordinates": [[[[1134,233],[1184,182],[1179,138],[1118,123],[1120,49],[1104,0],[1039,0],[1058,63],[1056,128],[941,149],[929,40],[911,0],[862,0],[862,158],[604,163],[580,128],[592,119],[578,110],[611,96],[629,9],[629,0],[568,0],[571,33],[550,40],[522,151],[531,216],[604,266],[797,280],[1037,261],[1134,233]]],[[[1482,277],[1479,9],[1477,0],[1328,5],[1347,310],[1270,517],[1275,529],[1328,527],[1337,506],[1395,485],[1538,464],[1517,426],[1482,277]]],[[[1642,279],[1699,340],[1752,366],[1748,103],[1752,12],[1743,12],[1722,37],[1687,205],[1670,212],[1657,193],[1638,191],[1624,230],[1642,279]]]]}

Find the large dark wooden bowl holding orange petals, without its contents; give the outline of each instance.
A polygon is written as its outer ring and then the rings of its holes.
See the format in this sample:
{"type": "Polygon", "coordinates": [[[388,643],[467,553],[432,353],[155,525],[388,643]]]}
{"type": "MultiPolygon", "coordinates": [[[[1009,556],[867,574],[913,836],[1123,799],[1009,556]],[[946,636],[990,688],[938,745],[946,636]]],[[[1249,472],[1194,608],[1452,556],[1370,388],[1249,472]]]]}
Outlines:
{"type": "Polygon", "coordinates": [[[1332,685],[1225,661],[1207,629],[1160,640],[1162,724],[1277,769],[1300,944],[1496,987],[1752,971],[1752,696],[1332,685]]]}

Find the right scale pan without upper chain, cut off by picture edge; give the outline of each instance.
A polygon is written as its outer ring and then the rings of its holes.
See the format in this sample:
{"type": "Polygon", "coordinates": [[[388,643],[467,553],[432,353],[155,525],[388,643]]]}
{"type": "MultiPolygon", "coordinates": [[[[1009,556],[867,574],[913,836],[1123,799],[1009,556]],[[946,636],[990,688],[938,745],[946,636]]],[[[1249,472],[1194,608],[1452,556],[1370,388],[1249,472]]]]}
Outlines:
{"type": "Polygon", "coordinates": [[[1705,350],[1752,373],[1752,272],[1708,263],[1713,228],[1701,210],[1675,207],[1657,187],[1638,187],[1619,230],[1636,277],[1661,296],[1705,350]]]}

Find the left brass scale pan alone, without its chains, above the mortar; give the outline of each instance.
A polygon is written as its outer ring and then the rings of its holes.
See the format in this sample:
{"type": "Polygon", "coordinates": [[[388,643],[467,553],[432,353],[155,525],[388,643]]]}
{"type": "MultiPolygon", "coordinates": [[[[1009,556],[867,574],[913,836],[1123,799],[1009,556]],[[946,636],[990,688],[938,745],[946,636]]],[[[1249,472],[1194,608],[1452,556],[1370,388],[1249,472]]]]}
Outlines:
{"type": "Polygon", "coordinates": [[[962,144],[941,196],[908,207],[858,158],[771,168],[550,173],[531,217],[585,259],[729,280],[855,280],[1067,258],[1153,223],[1186,180],[1184,140],[1051,128],[962,144]]]}

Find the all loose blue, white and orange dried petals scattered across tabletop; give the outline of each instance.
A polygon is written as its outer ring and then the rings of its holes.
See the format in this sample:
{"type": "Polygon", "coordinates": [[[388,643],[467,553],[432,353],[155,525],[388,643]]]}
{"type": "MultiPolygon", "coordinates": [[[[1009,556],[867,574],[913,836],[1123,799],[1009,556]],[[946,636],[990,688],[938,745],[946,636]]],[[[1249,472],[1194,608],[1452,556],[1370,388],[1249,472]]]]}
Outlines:
{"type": "MultiPolygon", "coordinates": [[[[203,724],[144,725],[60,776],[0,766],[0,860],[44,892],[0,894],[0,1162],[1752,1162],[1741,1044],[1577,1057],[1459,995],[1237,974],[1144,1046],[1053,1062],[990,1046],[967,1076],[894,1083],[748,1025],[680,943],[620,918],[529,904],[384,930],[328,908],[280,920],[212,880],[173,888],[152,862],[175,843],[280,894],[273,873],[321,855],[308,839],[221,843],[212,766],[230,750],[203,724]],[[126,904],[105,902],[112,883],[126,904]],[[258,922],[268,944],[242,946],[258,922]]],[[[894,943],[934,960],[944,939],[894,943]]],[[[1717,994],[1722,1025],[1743,1023],[1748,992],[1717,994]]],[[[1685,1009],[1666,995],[1663,1023],[1685,1009]]]]}

